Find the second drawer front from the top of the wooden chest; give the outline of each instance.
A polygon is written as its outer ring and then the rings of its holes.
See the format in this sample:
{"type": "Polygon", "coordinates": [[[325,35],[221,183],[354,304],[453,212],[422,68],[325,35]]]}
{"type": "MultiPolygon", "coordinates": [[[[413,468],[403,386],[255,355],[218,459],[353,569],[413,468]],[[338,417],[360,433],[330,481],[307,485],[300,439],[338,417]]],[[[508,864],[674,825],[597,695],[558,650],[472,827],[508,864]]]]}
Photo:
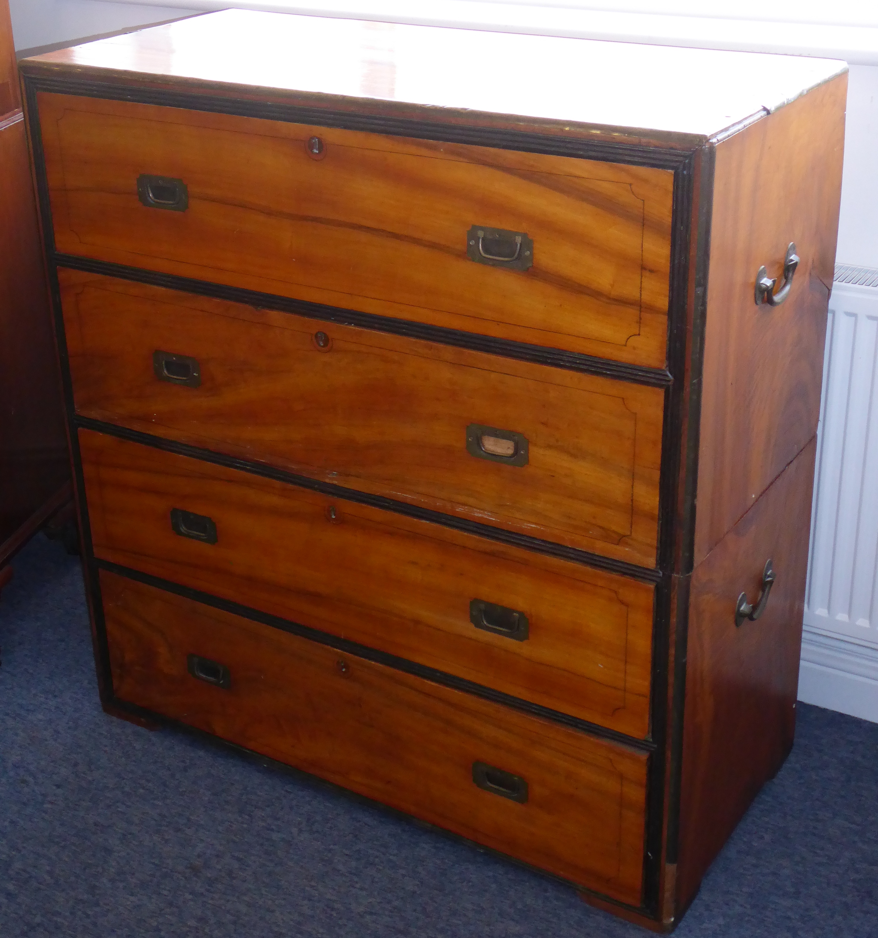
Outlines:
{"type": "Polygon", "coordinates": [[[60,279],[80,414],[655,567],[659,388],[60,279]]]}

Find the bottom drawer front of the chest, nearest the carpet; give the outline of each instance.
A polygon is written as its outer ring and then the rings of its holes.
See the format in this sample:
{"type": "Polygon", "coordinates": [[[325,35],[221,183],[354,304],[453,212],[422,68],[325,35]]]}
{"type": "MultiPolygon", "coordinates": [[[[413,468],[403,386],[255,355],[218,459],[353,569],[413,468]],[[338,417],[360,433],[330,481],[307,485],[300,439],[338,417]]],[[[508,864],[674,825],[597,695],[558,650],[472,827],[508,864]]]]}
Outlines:
{"type": "Polygon", "coordinates": [[[640,904],[647,755],[113,573],[100,586],[120,700],[640,904]]]}

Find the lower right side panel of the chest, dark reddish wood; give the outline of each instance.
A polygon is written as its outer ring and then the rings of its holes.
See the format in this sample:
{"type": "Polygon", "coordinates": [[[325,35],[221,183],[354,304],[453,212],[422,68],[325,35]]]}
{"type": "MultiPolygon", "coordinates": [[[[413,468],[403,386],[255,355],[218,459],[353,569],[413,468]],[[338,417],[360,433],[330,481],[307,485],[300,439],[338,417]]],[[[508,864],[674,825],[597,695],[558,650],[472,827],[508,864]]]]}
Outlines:
{"type": "Polygon", "coordinates": [[[692,573],[678,908],[793,746],[815,441],[692,573]],[[742,590],[778,579],[762,617],[734,624],[742,590]]]}

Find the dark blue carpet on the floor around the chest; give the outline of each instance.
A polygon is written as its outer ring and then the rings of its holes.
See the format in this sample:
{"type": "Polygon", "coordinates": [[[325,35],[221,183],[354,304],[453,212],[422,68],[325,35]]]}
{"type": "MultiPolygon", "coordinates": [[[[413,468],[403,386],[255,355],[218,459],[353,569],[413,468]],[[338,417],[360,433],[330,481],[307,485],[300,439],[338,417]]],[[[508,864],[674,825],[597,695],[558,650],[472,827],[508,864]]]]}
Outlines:
{"type": "MultiPolygon", "coordinates": [[[[0,934],[642,938],[513,864],[100,710],[76,558],[0,602],[0,934]]],[[[800,704],[793,754],[676,934],[878,934],[878,725],[800,704]]]]}

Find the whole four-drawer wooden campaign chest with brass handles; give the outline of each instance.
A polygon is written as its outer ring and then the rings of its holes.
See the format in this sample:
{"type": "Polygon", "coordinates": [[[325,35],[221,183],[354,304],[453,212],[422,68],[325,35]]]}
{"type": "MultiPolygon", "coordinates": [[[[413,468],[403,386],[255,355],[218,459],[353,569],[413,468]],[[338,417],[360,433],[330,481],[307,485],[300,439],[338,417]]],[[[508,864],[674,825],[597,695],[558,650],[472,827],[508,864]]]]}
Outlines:
{"type": "Polygon", "coordinates": [[[233,10],[22,69],[105,708],[672,928],[793,745],[843,64],[233,10]]]}

